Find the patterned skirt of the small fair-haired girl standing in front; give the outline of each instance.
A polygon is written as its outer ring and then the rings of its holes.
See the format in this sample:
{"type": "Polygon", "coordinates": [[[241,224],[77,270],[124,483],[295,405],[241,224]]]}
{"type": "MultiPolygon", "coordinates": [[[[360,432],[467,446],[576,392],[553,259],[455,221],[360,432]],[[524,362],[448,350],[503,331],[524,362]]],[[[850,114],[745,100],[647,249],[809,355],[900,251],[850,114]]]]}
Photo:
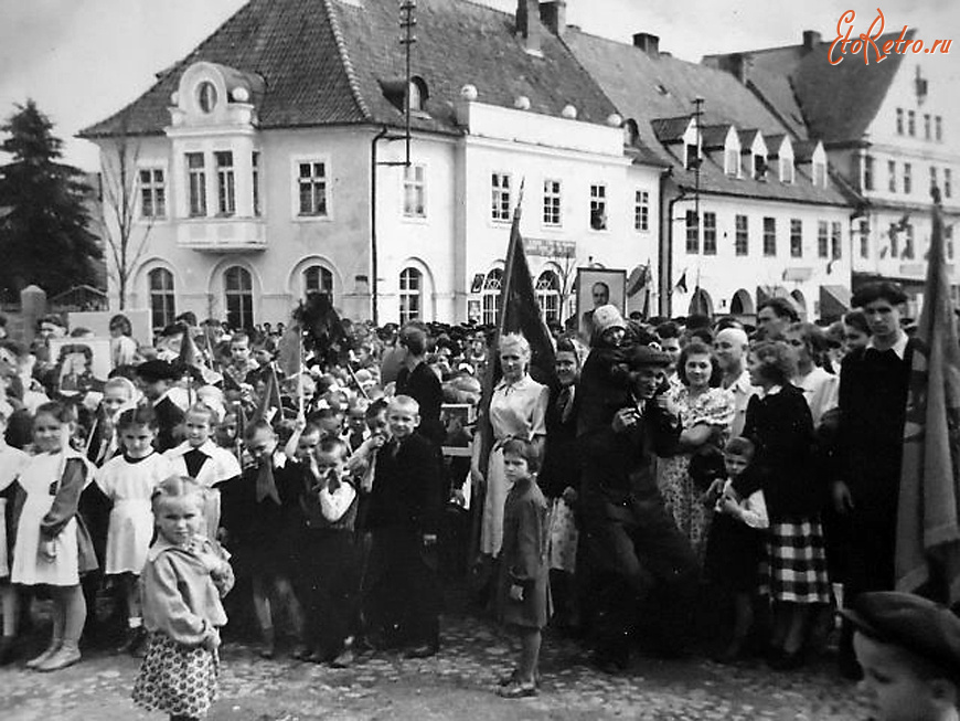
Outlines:
{"type": "Polygon", "coordinates": [[[218,670],[216,651],[183,646],[154,632],[134,682],[134,702],[148,711],[205,717],[216,701],[218,670]]]}

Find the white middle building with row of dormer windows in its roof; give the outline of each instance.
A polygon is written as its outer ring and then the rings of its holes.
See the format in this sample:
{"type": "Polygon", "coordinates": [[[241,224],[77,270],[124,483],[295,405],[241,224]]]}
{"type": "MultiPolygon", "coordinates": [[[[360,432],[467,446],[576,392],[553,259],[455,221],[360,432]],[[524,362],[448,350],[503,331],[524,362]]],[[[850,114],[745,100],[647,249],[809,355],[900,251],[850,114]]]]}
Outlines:
{"type": "Polygon", "coordinates": [[[662,315],[751,316],[771,296],[811,319],[845,308],[853,195],[802,123],[785,123],[728,73],[660,52],[654,35],[627,44],[568,29],[564,40],[630,142],[668,167],[662,315]]]}

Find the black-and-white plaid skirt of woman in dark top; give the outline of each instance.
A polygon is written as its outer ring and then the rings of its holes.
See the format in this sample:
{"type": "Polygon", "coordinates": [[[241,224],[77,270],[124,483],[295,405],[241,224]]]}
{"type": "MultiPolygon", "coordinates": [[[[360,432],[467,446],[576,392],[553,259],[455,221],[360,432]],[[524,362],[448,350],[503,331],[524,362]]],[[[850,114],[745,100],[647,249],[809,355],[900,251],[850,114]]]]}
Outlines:
{"type": "Polygon", "coordinates": [[[830,603],[826,549],[819,517],[770,522],[760,593],[787,603],[830,603]]]}

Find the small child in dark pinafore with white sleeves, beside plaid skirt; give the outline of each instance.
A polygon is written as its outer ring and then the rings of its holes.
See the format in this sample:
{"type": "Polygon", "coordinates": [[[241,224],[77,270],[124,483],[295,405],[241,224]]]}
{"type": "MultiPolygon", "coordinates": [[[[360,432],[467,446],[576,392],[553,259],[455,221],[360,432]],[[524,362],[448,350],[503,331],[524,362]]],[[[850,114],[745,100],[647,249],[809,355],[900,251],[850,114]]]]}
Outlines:
{"type": "Polygon", "coordinates": [[[734,624],[729,644],[717,660],[736,660],[754,622],[754,597],[759,589],[764,532],[770,528],[760,479],[750,473],[754,444],[730,438],[724,448],[726,478],[707,491],[714,518],[706,545],[704,571],[733,601],[734,624]]]}

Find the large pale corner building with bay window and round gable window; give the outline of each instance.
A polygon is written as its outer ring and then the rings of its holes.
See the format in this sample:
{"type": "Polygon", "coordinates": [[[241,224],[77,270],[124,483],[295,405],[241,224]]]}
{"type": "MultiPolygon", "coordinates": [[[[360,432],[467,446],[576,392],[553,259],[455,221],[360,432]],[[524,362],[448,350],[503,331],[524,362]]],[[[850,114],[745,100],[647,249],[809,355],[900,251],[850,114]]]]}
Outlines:
{"type": "Polygon", "coordinates": [[[662,163],[625,151],[548,31],[562,4],[544,25],[535,0],[516,17],[420,0],[407,86],[394,0],[252,0],[82,134],[136,172],[128,307],[249,326],[323,290],[353,318],[492,321],[521,185],[551,319],[578,266],[648,264],[662,163]]]}

